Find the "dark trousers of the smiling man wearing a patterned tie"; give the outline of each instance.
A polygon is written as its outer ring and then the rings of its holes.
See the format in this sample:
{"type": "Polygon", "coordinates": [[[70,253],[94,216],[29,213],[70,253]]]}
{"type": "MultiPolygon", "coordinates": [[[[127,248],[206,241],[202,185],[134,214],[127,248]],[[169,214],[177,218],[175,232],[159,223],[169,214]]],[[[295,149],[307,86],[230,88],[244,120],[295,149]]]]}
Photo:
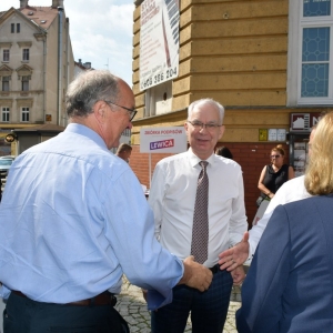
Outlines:
{"type": "Polygon", "coordinates": [[[222,333],[231,289],[232,278],[225,270],[214,274],[205,292],[176,285],[172,303],[151,313],[151,332],[183,333],[191,311],[192,333],[222,333]]]}

